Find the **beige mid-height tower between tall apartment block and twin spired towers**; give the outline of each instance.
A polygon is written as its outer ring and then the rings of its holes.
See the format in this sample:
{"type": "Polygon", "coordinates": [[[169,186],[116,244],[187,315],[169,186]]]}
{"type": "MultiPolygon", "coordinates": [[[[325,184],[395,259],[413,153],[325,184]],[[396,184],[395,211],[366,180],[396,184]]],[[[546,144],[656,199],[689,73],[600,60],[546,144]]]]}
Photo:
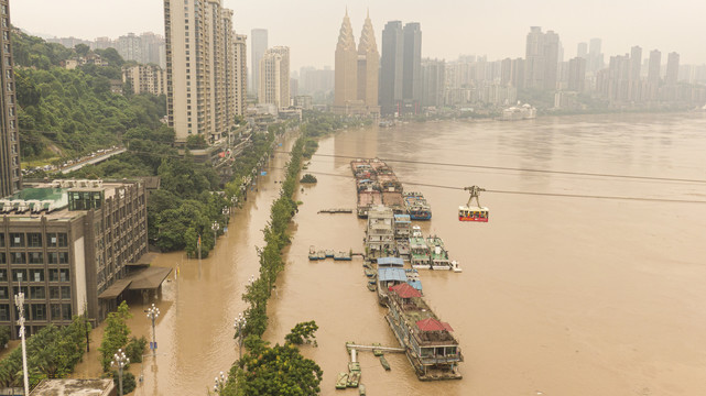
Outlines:
{"type": "Polygon", "coordinates": [[[275,46],[262,55],[258,102],[290,107],[290,47],[275,46]]]}

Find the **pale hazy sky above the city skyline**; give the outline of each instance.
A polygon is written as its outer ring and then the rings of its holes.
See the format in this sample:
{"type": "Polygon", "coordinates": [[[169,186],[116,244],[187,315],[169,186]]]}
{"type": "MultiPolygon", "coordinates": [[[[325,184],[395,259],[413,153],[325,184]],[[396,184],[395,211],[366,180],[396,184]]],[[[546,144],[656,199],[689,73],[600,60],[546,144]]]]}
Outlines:
{"type": "MultiPolygon", "coordinates": [[[[251,29],[264,28],[270,46],[291,47],[293,70],[333,66],[346,6],[356,41],[370,9],[378,48],[387,21],[420,22],[425,57],[523,57],[530,26],[542,26],[560,34],[565,59],[576,56],[578,42],[600,37],[606,61],[640,45],[644,57],[662,51],[663,63],[670,52],[680,53],[681,64],[706,63],[702,0],[224,0],[235,11],[238,33],[249,36],[251,29]]],[[[10,0],[10,8],[12,23],[33,33],[88,40],[164,34],[162,0],[10,0]]]]}

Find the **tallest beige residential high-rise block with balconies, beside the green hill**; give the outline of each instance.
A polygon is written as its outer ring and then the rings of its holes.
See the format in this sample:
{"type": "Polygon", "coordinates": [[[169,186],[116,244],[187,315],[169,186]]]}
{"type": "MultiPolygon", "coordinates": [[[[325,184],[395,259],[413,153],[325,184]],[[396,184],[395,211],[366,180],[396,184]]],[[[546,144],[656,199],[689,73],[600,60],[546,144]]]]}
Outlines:
{"type": "Polygon", "coordinates": [[[236,40],[232,12],[220,0],[164,0],[164,31],[169,125],[177,142],[194,135],[216,142],[235,125],[245,102],[237,87],[246,77],[238,77],[242,67],[236,67],[245,62],[243,56],[236,62],[245,44],[236,40]]]}

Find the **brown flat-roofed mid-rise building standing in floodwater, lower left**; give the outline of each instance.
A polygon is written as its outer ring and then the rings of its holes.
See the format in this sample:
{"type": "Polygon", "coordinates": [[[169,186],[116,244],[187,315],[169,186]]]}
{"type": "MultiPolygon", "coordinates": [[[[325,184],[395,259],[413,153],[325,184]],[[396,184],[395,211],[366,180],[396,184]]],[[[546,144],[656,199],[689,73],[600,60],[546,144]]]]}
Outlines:
{"type": "Polygon", "coordinates": [[[148,252],[143,184],[55,180],[17,193],[11,207],[7,202],[0,222],[0,326],[17,337],[11,298],[20,290],[30,334],[48,323],[68,324],[76,315],[102,321],[129,289],[128,268],[148,252]]]}

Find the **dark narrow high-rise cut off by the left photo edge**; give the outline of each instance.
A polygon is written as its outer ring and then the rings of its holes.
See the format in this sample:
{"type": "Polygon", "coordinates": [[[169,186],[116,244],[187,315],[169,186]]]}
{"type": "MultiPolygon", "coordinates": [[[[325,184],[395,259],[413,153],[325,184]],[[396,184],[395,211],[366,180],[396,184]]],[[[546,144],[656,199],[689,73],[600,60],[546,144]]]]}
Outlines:
{"type": "Polygon", "coordinates": [[[18,110],[15,101],[14,63],[12,62],[12,43],[10,42],[10,4],[0,0],[0,48],[3,48],[0,63],[0,196],[7,197],[20,189],[20,138],[18,110]]]}

